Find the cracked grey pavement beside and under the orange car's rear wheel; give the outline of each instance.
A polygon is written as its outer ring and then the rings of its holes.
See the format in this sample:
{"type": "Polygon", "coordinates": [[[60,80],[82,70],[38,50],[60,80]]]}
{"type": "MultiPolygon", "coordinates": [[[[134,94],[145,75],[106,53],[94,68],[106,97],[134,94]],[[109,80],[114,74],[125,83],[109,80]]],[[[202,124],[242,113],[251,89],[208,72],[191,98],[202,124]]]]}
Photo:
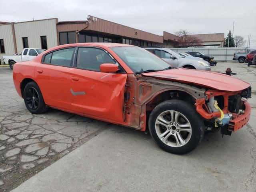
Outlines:
{"type": "Polygon", "coordinates": [[[18,186],[108,125],[54,109],[31,114],[16,93],[12,70],[0,68],[0,74],[0,191],[18,186]]]}

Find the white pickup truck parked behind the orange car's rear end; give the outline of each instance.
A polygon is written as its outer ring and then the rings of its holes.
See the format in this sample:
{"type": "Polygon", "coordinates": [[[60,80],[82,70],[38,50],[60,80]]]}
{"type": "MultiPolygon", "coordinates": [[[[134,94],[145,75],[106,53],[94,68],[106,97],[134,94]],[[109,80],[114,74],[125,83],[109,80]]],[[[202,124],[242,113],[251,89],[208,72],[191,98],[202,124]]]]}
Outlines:
{"type": "Polygon", "coordinates": [[[15,63],[32,60],[44,51],[45,49],[25,48],[19,55],[3,55],[4,64],[8,64],[13,69],[15,63]]]}

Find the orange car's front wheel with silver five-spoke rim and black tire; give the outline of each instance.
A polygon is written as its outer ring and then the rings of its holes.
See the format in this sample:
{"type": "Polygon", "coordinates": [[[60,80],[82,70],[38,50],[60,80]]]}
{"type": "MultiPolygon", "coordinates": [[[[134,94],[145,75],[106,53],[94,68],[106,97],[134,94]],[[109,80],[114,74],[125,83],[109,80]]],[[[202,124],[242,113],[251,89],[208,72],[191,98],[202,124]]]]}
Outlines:
{"type": "Polygon", "coordinates": [[[148,125],[154,142],[174,154],[191,152],[204,137],[202,118],[191,104],[182,100],[167,100],[158,104],[150,114],[148,125]]]}

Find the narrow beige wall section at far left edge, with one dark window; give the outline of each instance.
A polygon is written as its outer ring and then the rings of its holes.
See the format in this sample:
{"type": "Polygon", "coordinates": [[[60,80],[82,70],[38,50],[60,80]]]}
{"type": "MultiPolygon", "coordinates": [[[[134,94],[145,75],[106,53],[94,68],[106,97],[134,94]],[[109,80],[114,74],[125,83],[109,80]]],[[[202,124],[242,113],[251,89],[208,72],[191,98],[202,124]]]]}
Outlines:
{"type": "Polygon", "coordinates": [[[14,54],[14,43],[12,38],[11,24],[0,26],[0,39],[4,40],[4,50],[5,50],[5,53],[0,53],[0,60],[2,62],[4,54],[14,54]]]}

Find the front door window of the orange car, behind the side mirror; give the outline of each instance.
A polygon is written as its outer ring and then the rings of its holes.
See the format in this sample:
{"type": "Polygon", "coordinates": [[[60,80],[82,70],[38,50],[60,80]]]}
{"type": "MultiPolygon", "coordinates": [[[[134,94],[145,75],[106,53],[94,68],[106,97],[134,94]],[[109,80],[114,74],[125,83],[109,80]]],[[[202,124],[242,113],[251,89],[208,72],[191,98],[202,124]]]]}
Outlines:
{"type": "Polygon", "coordinates": [[[103,50],[97,48],[80,47],[78,48],[76,67],[91,71],[100,71],[103,63],[116,62],[103,50]]]}

